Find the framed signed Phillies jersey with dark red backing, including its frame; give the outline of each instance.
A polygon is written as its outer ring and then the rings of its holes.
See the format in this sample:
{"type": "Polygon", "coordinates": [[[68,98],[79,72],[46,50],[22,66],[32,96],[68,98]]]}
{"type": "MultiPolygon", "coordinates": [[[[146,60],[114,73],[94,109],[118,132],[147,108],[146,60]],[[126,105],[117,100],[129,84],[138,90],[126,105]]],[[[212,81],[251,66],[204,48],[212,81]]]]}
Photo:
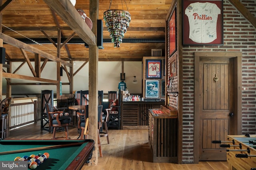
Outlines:
{"type": "Polygon", "coordinates": [[[223,0],[183,0],[183,45],[223,45],[223,0]]]}

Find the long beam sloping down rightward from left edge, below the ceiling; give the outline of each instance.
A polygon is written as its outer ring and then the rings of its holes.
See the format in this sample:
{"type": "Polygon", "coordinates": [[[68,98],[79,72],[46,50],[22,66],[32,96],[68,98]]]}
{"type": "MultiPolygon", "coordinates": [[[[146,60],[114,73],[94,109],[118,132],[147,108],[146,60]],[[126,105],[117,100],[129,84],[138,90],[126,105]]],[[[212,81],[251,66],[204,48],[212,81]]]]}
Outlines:
{"type": "Polygon", "coordinates": [[[66,65],[66,66],[72,66],[72,64],[62,60],[62,59],[59,59],[57,57],[54,57],[53,55],[50,55],[40,49],[37,49],[35,47],[32,47],[31,45],[28,45],[26,43],[23,43],[21,41],[18,41],[8,35],[5,35],[4,33],[0,33],[0,39],[3,39],[4,40],[4,43],[7,43],[7,44],[10,44],[14,47],[18,47],[18,48],[21,48],[21,49],[25,49],[26,51],[29,51],[31,53],[34,53],[34,54],[40,54],[41,57],[44,57],[44,58],[48,58],[50,59],[51,61],[56,61],[56,62],[61,62],[62,64],[66,65]]]}

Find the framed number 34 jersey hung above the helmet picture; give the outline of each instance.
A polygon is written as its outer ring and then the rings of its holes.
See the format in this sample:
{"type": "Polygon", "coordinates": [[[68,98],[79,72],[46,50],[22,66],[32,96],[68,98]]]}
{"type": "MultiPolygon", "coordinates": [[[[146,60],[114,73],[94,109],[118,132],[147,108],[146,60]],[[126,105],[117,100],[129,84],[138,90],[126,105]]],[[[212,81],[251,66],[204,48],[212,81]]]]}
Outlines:
{"type": "Polygon", "coordinates": [[[146,60],[146,78],[161,78],[161,60],[146,60]]]}

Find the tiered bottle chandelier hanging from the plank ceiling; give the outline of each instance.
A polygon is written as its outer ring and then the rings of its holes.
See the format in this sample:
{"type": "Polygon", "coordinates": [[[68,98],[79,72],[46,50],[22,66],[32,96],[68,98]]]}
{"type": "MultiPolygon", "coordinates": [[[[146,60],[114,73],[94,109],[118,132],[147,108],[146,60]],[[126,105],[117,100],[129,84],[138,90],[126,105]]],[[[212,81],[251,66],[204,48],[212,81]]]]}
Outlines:
{"type": "Polygon", "coordinates": [[[124,33],[126,33],[129,23],[131,21],[131,14],[128,11],[126,0],[127,11],[124,11],[123,0],[122,10],[110,10],[112,0],[110,0],[110,6],[107,11],[104,12],[103,19],[106,21],[106,27],[110,33],[111,42],[114,43],[114,47],[120,47],[122,39],[124,38],[124,33]]]}

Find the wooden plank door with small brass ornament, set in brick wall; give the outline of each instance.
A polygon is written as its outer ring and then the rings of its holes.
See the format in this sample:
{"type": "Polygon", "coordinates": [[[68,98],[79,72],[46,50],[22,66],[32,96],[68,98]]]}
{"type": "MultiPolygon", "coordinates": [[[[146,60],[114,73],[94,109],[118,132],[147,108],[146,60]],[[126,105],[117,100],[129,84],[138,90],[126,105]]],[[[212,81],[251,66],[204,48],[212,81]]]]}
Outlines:
{"type": "Polygon", "coordinates": [[[206,57],[199,65],[199,160],[226,160],[226,148],[212,141],[225,141],[230,132],[229,113],[234,108],[232,59],[206,57]]]}

